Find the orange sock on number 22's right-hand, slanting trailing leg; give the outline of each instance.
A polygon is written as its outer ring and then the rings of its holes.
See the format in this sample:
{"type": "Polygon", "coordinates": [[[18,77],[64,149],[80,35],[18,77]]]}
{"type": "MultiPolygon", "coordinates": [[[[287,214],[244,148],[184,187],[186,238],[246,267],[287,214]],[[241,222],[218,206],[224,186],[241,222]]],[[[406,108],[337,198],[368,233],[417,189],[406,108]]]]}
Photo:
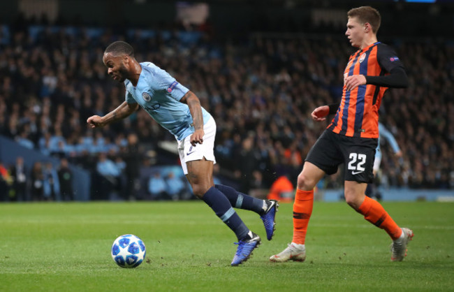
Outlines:
{"type": "MultiPolygon", "coordinates": [[[[384,229],[393,240],[397,240],[402,234],[402,229],[395,224],[393,218],[388,215],[379,202],[372,198],[366,196],[357,212],[363,214],[364,218],[370,223],[384,229]]],[[[295,219],[293,219],[293,221],[295,221],[295,219]]]]}

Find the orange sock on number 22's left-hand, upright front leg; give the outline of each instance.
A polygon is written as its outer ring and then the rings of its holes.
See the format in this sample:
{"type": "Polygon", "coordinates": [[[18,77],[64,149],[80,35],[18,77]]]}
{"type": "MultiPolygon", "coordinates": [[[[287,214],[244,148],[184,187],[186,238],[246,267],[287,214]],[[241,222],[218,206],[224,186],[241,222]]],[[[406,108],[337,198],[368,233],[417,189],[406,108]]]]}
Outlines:
{"type": "Polygon", "coordinates": [[[314,206],[314,190],[296,190],[295,203],[293,203],[293,240],[298,244],[305,244],[307,224],[314,206]]]}

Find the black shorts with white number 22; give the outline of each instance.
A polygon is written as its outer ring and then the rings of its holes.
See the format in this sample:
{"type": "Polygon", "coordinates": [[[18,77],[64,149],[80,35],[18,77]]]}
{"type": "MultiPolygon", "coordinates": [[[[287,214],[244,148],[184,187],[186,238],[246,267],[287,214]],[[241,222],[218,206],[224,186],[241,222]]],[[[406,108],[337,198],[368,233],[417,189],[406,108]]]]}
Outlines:
{"type": "Polygon", "coordinates": [[[376,138],[359,138],[339,135],[325,130],[307,154],[305,161],[313,163],[326,174],[337,173],[339,164],[345,163],[345,180],[372,182],[376,138]]]}

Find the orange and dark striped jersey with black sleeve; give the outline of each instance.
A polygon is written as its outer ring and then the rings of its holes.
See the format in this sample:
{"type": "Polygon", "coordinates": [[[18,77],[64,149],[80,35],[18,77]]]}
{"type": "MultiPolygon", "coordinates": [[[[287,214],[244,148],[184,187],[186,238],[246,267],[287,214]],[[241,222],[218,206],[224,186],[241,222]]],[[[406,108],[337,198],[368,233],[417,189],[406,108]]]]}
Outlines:
{"type": "Polygon", "coordinates": [[[385,76],[397,67],[404,68],[394,50],[383,43],[374,43],[351,54],[344,71],[342,100],[327,129],[349,137],[379,138],[379,108],[388,87],[367,82],[347,91],[345,80],[351,75],[385,76]]]}

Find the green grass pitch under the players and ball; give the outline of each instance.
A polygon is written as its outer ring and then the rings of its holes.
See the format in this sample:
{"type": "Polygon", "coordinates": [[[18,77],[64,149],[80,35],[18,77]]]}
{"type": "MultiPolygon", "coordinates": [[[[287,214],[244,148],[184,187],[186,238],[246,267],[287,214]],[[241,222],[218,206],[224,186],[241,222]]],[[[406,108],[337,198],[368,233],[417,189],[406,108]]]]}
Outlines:
{"type": "Polygon", "coordinates": [[[454,204],[383,203],[415,236],[402,263],[390,239],[345,203],[314,204],[305,263],[270,263],[291,241],[281,204],[272,241],[257,214],[239,210],[262,244],[230,267],[235,235],[201,201],[0,204],[1,291],[453,291],[454,204]],[[119,268],[117,236],[138,235],[146,262],[119,268]]]}

